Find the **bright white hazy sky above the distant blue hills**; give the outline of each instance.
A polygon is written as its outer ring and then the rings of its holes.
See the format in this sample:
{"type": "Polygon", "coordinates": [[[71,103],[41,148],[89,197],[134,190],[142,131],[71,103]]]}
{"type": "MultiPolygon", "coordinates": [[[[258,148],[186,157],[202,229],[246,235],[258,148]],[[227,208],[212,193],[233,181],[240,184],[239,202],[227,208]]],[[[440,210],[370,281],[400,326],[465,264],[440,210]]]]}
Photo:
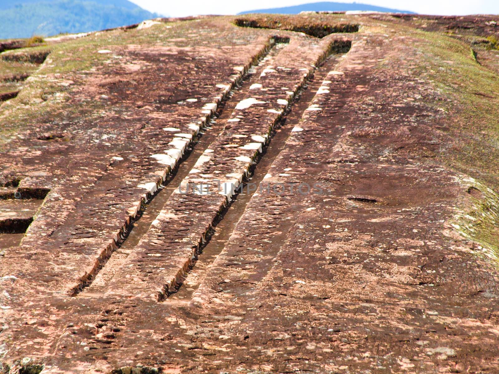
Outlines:
{"type": "MultiPolygon", "coordinates": [[[[149,11],[172,17],[194,14],[236,14],[245,10],[299,5],[324,0],[130,0],[149,11]]],[[[336,0],[337,2],[353,2],[336,0]]],[[[498,0],[357,0],[359,3],[412,10],[424,14],[499,14],[498,0]]]]}

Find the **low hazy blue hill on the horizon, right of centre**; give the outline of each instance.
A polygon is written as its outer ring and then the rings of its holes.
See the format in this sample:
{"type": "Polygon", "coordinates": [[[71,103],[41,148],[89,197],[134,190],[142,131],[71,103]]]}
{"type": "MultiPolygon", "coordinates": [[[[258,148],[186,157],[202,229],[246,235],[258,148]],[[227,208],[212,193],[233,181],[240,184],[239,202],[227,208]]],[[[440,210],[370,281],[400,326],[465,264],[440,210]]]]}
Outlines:
{"type": "Polygon", "coordinates": [[[249,13],[280,13],[280,14],[298,14],[301,11],[347,11],[347,10],[370,10],[370,11],[384,11],[392,13],[414,13],[408,10],[399,10],[384,8],[382,6],[360,4],[360,3],[348,3],[348,2],[311,2],[308,4],[294,5],[294,6],[284,6],[282,8],[268,8],[268,9],[256,9],[243,11],[239,14],[249,14],[249,13]]]}

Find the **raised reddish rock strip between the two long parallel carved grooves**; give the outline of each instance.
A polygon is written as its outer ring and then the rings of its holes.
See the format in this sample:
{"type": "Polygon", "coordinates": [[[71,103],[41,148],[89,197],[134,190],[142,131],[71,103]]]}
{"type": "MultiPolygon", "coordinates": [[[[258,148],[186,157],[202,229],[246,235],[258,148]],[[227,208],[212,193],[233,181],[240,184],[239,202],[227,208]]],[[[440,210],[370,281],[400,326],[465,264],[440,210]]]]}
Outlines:
{"type": "Polygon", "coordinates": [[[250,175],[272,130],[285,118],[303,85],[331,52],[345,52],[351,45],[344,39],[316,44],[300,38],[293,43],[289,49],[277,44],[272,49],[275,55],[269,53],[250,69],[254,74],[244,89],[226,104],[227,109],[234,110],[223,131],[192,169],[182,173],[185,177],[175,181],[181,182],[178,188],[175,184],[170,185],[173,189],[163,188],[165,201],[162,204],[158,200],[162,205],[158,206],[159,214],[143,221],[144,227],[135,239],[119,256],[111,256],[94,280],[90,279],[91,285],[80,293],[82,297],[129,295],[163,300],[177,291],[200,248],[209,240],[213,224],[237,195],[235,189],[250,175]],[[291,67],[280,66],[288,53],[299,50],[298,46],[311,46],[313,53],[302,49],[291,67]],[[195,189],[186,190],[189,185],[195,189]]]}

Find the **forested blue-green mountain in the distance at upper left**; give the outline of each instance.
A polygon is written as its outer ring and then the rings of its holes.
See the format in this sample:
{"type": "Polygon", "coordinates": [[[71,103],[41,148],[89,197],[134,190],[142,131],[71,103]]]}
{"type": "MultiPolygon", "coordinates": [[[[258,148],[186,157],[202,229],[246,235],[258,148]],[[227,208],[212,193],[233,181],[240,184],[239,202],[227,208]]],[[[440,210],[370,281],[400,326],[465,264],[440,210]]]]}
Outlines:
{"type": "Polygon", "coordinates": [[[158,16],[127,0],[0,0],[0,39],[102,30],[158,16]]]}

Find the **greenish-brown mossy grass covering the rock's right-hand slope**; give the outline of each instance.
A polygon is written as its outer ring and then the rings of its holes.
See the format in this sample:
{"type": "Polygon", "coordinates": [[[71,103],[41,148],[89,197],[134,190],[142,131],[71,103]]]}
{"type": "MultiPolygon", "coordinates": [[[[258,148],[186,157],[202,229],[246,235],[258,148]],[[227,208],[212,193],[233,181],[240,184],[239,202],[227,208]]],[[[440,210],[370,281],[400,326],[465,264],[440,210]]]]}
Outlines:
{"type": "MultiPolygon", "coordinates": [[[[419,56],[410,74],[430,83],[434,94],[425,104],[442,113],[437,121],[455,143],[438,157],[444,165],[472,177],[481,198],[469,196],[453,224],[460,233],[481,243],[491,256],[499,255],[497,229],[499,190],[499,76],[481,66],[469,43],[439,32],[393,26],[407,47],[419,56]],[[479,182],[480,181],[480,182],[479,182]]],[[[392,64],[395,56],[387,56],[392,64]]],[[[385,63],[380,64],[384,68],[385,63]]],[[[390,66],[389,63],[386,66],[390,66]]],[[[489,256],[490,257],[490,256],[489,256]]]]}

